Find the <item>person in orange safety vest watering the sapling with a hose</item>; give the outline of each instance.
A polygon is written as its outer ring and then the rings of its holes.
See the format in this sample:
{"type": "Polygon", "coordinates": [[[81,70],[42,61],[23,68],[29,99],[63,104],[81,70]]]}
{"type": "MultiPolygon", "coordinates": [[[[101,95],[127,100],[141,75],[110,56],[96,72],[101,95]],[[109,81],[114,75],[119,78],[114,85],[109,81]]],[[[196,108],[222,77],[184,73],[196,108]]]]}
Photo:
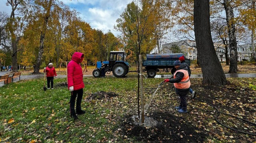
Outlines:
{"type": "Polygon", "coordinates": [[[165,79],[164,82],[170,82],[174,84],[175,92],[179,95],[180,105],[175,107],[178,112],[186,113],[187,112],[187,94],[190,89],[190,81],[188,70],[185,65],[182,65],[179,61],[174,62],[174,66],[177,69],[174,73],[173,78],[165,79]]]}

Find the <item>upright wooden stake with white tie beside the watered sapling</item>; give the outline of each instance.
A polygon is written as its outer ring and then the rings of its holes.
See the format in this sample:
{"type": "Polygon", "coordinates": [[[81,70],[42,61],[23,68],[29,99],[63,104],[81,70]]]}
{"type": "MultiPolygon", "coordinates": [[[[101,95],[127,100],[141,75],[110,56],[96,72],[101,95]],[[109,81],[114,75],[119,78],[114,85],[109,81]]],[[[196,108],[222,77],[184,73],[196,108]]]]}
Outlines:
{"type": "Polygon", "coordinates": [[[143,75],[142,75],[142,57],[139,55],[140,79],[141,79],[141,123],[144,123],[144,102],[143,102],[143,75]]]}

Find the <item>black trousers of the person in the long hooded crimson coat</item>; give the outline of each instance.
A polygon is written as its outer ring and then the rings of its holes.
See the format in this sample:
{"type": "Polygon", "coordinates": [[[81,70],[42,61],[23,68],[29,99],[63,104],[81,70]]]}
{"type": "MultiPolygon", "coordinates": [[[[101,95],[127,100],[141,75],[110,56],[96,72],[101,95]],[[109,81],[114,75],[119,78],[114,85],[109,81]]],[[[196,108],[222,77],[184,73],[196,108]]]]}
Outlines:
{"type": "Polygon", "coordinates": [[[83,97],[83,89],[74,90],[74,91],[71,92],[70,106],[69,106],[70,114],[75,114],[76,97],[77,97],[76,110],[79,111],[79,110],[81,110],[81,102],[82,102],[82,97],[83,97]]]}

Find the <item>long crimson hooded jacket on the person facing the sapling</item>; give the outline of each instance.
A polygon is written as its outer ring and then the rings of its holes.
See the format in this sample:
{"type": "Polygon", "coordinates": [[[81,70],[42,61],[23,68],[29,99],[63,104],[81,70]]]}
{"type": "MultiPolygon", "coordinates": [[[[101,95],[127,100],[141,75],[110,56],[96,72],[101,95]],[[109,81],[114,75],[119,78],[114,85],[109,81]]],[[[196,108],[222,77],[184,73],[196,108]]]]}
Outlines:
{"type": "Polygon", "coordinates": [[[83,53],[74,52],[72,60],[68,63],[68,89],[72,86],[74,90],[84,88],[82,67],[79,64],[83,57],[83,53]]]}

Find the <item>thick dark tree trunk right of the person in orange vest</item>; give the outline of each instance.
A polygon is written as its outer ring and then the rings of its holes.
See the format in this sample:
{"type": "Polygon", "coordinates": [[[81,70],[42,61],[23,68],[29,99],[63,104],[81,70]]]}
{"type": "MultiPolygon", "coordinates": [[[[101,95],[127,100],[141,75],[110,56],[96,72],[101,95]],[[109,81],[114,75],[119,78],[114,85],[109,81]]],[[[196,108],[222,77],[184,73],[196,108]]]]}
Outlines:
{"type": "Polygon", "coordinates": [[[194,27],[203,83],[226,85],[226,76],[214,49],[210,28],[210,2],[194,0],[194,27]]]}

